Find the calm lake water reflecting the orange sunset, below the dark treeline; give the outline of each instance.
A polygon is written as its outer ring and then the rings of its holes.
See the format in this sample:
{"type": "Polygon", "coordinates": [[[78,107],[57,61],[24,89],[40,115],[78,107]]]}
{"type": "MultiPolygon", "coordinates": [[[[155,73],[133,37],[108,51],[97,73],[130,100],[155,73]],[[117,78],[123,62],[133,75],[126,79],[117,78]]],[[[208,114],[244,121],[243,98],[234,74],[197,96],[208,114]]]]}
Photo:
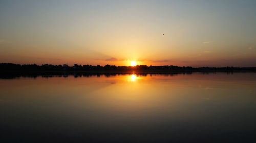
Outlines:
{"type": "Polygon", "coordinates": [[[255,142],[256,73],[0,79],[1,142],[255,142]]]}

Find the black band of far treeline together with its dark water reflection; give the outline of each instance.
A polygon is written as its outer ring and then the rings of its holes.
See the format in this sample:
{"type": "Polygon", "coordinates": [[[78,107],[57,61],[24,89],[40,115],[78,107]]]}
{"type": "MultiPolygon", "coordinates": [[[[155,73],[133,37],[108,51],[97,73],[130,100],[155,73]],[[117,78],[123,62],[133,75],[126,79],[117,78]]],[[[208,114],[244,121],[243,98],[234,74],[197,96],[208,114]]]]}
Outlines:
{"type": "Polygon", "coordinates": [[[131,74],[136,73],[140,75],[148,74],[164,74],[164,75],[175,75],[175,74],[191,74],[193,72],[201,73],[216,73],[225,72],[227,74],[233,72],[255,72],[256,67],[179,67],[179,66],[146,66],[137,65],[132,66],[92,66],[92,65],[20,65],[12,63],[1,63],[0,64],[0,78],[16,78],[16,77],[67,77],[68,75],[74,75],[74,77],[90,77],[90,76],[116,76],[119,74],[131,74]]]}

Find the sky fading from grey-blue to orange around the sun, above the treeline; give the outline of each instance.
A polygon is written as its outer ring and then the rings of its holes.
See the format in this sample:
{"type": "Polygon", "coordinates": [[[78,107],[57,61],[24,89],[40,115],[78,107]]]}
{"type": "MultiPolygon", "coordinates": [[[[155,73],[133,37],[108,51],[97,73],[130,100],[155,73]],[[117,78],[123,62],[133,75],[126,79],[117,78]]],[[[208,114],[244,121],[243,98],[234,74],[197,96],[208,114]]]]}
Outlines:
{"type": "Polygon", "coordinates": [[[255,25],[255,0],[0,0],[0,63],[255,67],[255,25]]]}

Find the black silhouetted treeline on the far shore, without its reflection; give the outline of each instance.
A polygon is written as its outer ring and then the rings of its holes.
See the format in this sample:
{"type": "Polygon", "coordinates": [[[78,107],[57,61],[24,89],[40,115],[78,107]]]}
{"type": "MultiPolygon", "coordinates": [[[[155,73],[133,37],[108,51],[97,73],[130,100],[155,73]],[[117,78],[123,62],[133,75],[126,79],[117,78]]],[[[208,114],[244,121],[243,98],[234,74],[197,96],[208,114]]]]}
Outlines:
{"type": "Polygon", "coordinates": [[[105,65],[105,66],[93,66],[93,65],[78,65],[74,66],[64,65],[51,65],[51,64],[29,64],[29,65],[20,65],[12,63],[0,63],[0,72],[1,73],[15,73],[15,72],[95,72],[95,73],[104,73],[104,72],[255,72],[256,67],[179,67],[179,66],[146,66],[146,65],[137,65],[137,66],[115,66],[115,65],[105,65]]]}

